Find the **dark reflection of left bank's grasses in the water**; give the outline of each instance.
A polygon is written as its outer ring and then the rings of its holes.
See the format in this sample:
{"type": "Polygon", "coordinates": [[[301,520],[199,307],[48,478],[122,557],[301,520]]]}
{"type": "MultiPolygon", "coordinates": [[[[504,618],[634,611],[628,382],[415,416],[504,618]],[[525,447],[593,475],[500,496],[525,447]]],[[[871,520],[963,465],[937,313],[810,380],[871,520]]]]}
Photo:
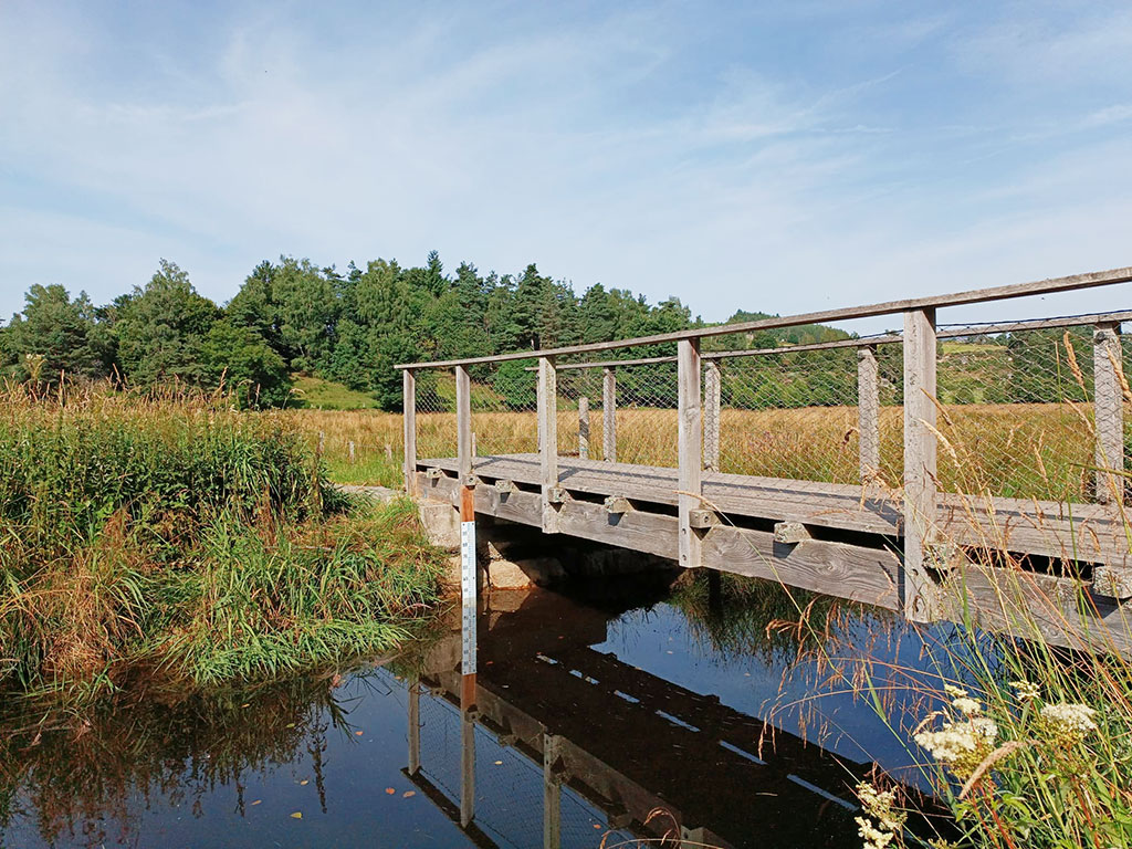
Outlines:
{"type": "Polygon", "coordinates": [[[9,719],[0,728],[0,844],[16,817],[37,824],[49,843],[129,842],[154,798],[201,816],[218,787],[234,788],[242,815],[254,801],[245,798],[250,779],[307,758],[325,813],[327,734],[351,730],[340,680],[189,695],[138,688],[78,713],[9,719]]]}

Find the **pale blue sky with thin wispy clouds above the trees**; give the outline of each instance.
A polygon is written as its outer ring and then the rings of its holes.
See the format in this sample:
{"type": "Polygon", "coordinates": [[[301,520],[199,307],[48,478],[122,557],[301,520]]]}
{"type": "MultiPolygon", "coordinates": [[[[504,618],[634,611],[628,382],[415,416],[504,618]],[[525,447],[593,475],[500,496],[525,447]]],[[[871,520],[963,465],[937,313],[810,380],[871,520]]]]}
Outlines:
{"type": "Polygon", "coordinates": [[[713,320],[1130,265],[1132,5],[0,1],[0,315],[432,248],[713,320]]]}

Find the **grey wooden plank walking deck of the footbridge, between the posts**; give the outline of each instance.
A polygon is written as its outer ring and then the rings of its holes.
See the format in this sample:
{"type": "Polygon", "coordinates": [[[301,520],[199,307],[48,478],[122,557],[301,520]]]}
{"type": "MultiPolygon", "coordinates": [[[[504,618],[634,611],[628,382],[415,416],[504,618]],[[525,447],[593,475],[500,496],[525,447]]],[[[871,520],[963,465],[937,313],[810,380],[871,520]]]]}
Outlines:
{"type": "MultiPolygon", "coordinates": [[[[418,465],[453,473],[460,469],[454,457],[420,460],[418,465]]],[[[541,482],[537,454],[477,457],[474,469],[486,478],[526,486],[541,482]]],[[[561,486],[595,496],[617,495],[671,507],[678,500],[677,478],[676,469],[559,458],[561,486]]],[[[846,483],[705,472],[703,492],[722,513],[886,537],[902,533],[899,501],[875,486],[863,490],[846,483]]],[[[959,544],[1114,565],[1132,563],[1124,524],[1106,505],[941,492],[937,523],[942,537],[959,544]]]]}

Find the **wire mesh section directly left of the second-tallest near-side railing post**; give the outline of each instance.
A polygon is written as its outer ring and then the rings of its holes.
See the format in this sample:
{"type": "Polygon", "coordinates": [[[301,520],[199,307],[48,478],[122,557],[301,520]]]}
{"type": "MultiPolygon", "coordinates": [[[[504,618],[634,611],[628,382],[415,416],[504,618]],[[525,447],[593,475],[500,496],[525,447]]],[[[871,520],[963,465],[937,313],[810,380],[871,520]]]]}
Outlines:
{"type": "Polygon", "coordinates": [[[617,462],[675,469],[678,465],[676,363],[618,366],[616,378],[617,462]]]}

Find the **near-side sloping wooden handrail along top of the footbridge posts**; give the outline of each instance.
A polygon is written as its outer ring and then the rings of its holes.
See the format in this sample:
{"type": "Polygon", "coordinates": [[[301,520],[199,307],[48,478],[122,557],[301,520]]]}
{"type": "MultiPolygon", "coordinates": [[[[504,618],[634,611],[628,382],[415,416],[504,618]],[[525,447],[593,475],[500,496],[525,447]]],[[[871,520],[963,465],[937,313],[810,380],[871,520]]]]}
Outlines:
{"type": "Polygon", "coordinates": [[[1072,292],[1081,289],[1095,289],[1097,286],[1108,286],[1117,283],[1132,282],[1132,266],[1114,268],[1107,272],[1090,272],[1088,274],[1074,274],[1067,277],[1052,277],[1048,280],[1032,281],[1029,283],[1013,283],[1005,286],[993,286],[990,289],[972,289],[966,292],[954,292],[951,294],[940,294],[929,298],[911,298],[901,301],[883,301],[861,307],[842,307],[840,309],[820,310],[817,312],[800,312],[795,316],[781,316],[774,318],[762,318],[755,321],[739,321],[737,324],[713,325],[710,327],[695,327],[687,331],[676,331],[672,333],[659,333],[652,336],[637,336],[635,338],[616,340],[612,342],[592,342],[584,345],[567,345],[565,348],[552,348],[541,351],[515,351],[506,354],[494,354],[490,357],[469,357],[457,360],[441,360],[437,362],[408,362],[398,363],[394,368],[449,368],[453,366],[473,366],[484,362],[506,362],[509,360],[528,360],[537,357],[563,357],[567,354],[591,353],[593,351],[612,351],[619,348],[633,348],[635,345],[654,345],[662,342],[679,342],[680,340],[705,338],[709,336],[726,336],[731,333],[751,333],[754,331],[766,331],[777,327],[797,327],[804,324],[820,324],[824,321],[843,321],[854,318],[871,318],[874,316],[894,315],[908,310],[937,309],[940,307],[958,307],[966,303],[980,303],[989,301],[1001,301],[1010,298],[1024,298],[1027,295],[1050,294],[1054,292],[1072,292]]]}

